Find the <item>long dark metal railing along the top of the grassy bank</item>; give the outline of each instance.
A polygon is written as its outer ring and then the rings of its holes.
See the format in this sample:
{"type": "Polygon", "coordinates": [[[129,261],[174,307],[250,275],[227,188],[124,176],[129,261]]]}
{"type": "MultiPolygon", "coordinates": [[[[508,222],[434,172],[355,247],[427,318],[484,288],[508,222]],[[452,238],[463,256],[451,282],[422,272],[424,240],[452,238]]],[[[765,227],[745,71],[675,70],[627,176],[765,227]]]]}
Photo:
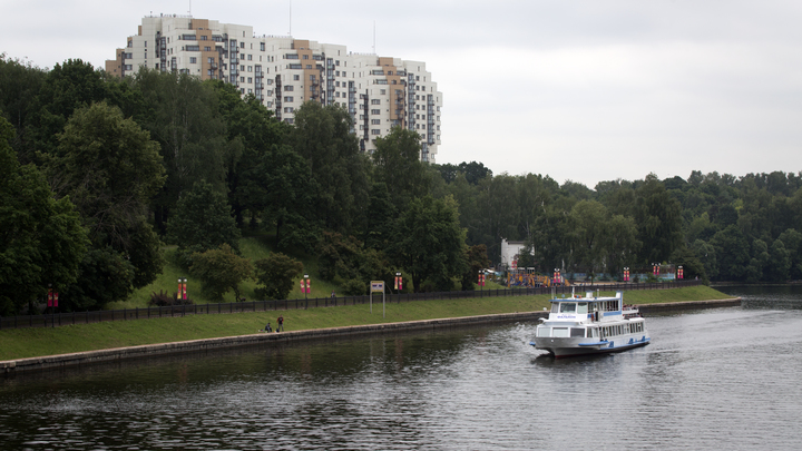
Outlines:
{"type": "MultiPolygon", "coordinates": [[[[477,290],[467,292],[438,292],[438,293],[401,293],[388,294],[387,302],[401,303],[411,301],[437,301],[437,300],[460,300],[490,296],[526,296],[537,294],[561,294],[583,295],[587,291],[634,291],[634,290],[667,290],[683,286],[695,286],[701,281],[675,281],[658,283],[604,283],[584,284],[556,287],[512,287],[497,290],[477,290]]],[[[41,315],[22,315],[0,317],[0,330],[21,327],[53,327],[69,324],[89,324],[105,321],[131,321],[147,320],[153,317],[186,316],[186,315],[211,315],[223,313],[242,312],[267,312],[280,310],[306,310],[319,307],[338,307],[344,305],[362,305],[370,302],[370,296],[338,296],[338,297],[313,297],[307,300],[281,300],[281,301],[246,301],[222,304],[196,304],[196,305],[173,305],[165,307],[143,307],[124,310],[101,310],[92,312],[70,312],[41,315]]],[[[380,295],[373,296],[373,302],[381,302],[380,295]]]]}

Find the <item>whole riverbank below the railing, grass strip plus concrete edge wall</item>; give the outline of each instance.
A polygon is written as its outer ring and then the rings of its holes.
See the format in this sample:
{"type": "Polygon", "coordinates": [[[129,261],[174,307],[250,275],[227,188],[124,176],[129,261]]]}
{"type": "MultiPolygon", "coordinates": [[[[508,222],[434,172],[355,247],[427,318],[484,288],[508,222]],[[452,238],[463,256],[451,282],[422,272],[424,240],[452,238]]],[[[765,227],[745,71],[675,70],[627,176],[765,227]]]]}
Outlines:
{"type": "MultiPolygon", "coordinates": [[[[613,293],[602,292],[602,295],[613,293]]],[[[653,305],[684,301],[733,302],[732,297],[706,286],[625,293],[629,304],[653,305]]],[[[692,302],[692,303],[689,303],[692,302]]],[[[549,296],[485,297],[470,300],[420,301],[388,304],[382,317],[381,303],[373,312],[366,305],[307,311],[253,312],[231,315],[197,315],[133,322],[114,322],[0,331],[0,371],[25,371],[75,365],[88,362],[128,359],[209,347],[226,347],[262,342],[287,342],[415,330],[458,324],[526,321],[542,315],[549,296]],[[283,314],[284,333],[256,333],[275,316],[283,314]]],[[[656,307],[656,305],[655,305],[656,307]]],[[[696,306],[702,307],[702,306],[696,306]]]]}

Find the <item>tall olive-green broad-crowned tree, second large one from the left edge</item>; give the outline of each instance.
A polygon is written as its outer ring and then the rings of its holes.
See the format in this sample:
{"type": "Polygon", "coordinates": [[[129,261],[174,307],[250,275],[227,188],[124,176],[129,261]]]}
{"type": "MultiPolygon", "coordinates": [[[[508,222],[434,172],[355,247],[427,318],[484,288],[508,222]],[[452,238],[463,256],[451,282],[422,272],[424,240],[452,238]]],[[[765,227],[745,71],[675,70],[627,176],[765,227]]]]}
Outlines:
{"type": "Polygon", "coordinates": [[[94,246],[134,264],[127,282],[135,288],[162,273],[160,241],[147,222],[148,203],[165,182],[158,149],[119,108],[100,102],[75,111],[47,159],[50,184],[70,196],[94,246]]]}

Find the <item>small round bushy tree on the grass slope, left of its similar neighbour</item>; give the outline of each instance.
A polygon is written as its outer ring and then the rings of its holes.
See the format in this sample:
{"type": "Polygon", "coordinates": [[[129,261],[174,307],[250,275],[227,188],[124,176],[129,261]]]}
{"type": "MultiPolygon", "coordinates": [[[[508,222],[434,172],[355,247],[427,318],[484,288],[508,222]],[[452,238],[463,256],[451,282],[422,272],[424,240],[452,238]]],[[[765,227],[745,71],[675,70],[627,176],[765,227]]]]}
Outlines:
{"type": "Polygon", "coordinates": [[[250,258],[243,258],[225,243],[215,249],[192,255],[189,272],[203,281],[203,291],[215,300],[223,300],[229,290],[234,301],[239,301],[239,284],[252,277],[250,258]]]}

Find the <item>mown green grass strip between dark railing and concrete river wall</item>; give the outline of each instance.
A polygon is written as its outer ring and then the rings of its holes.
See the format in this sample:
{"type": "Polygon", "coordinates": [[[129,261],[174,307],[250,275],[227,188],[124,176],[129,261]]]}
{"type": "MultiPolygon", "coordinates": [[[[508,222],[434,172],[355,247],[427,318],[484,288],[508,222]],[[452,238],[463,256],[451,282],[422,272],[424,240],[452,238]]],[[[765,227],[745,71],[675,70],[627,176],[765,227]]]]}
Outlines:
{"type": "MultiPolygon", "coordinates": [[[[613,293],[602,292],[602,295],[613,293]]],[[[624,295],[628,304],[727,298],[706,286],[664,291],[633,291],[624,295]]],[[[0,361],[70,352],[101,350],[139,344],[165,343],[256,333],[266,322],[275,326],[278,313],[288,331],[360,324],[393,323],[487,315],[495,313],[542,311],[548,296],[485,297],[473,300],[419,301],[387,304],[382,318],[381,302],[368,305],[330,308],[253,312],[222,315],[165,317],[128,322],[80,324],[56,329],[19,329],[0,331],[0,361]]]]}

